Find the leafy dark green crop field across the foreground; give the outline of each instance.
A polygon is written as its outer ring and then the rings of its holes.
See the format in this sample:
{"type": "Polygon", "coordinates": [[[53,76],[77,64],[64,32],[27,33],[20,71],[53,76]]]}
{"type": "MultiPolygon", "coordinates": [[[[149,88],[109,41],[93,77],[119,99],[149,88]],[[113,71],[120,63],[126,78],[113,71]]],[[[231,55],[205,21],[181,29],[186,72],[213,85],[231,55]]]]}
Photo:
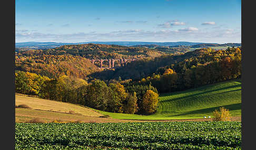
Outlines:
{"type": "Polygon", "coordinates": [[[241,122],[16,123],[15,149],[241,149],[241,122]]]}

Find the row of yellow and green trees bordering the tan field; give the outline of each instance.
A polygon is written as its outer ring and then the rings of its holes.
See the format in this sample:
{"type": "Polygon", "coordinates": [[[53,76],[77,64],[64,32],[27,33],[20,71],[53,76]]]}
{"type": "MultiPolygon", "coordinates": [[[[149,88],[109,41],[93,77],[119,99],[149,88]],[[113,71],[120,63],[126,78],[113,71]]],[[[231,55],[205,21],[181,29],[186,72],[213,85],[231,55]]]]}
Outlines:
{"type": "Polygon", "coordinates": [[[139,85],[125,88],[118,81],[87,83],[83,79],[61,76],[50,79],[36,73],[16,71],[15,92],[40,98],[88,106],[93,109],[129,114],[151,114],[156,111],[159,94],[155,88],[139,85]]]}

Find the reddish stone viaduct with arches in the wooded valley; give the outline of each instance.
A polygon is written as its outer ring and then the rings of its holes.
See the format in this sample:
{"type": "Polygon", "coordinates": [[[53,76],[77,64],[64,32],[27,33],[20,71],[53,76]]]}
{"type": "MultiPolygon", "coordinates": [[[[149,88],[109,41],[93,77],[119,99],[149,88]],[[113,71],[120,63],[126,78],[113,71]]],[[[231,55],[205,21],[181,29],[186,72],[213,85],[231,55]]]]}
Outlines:
{"type": "Polygon", "coordinates": [[[136,59],[90,59],[90,60],[93,64],[94,64],[95,61],[100,61],[101,62],[101,67],[100,68],[103,68],[102,65],[103,65],[104,61],[108,61],[109,62],[109,67],[105,67],[105,68],[110,69],[110,68],[114,68],[115,61],[120,61],[121,66],[125,66],[126,62],[135,61],[136,59]]]}

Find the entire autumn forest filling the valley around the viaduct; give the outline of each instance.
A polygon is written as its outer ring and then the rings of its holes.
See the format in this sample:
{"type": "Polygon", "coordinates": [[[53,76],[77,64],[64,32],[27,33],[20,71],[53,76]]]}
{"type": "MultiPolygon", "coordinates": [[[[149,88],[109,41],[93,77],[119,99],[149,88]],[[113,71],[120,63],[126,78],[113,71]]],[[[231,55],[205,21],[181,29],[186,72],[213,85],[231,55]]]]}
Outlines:
{"type": "Polygon", "coordinates": [[[72,45],[19,51],[16,92],[119,113],[152,114],[159,94],[241,77],[241,47],[168,54],[115,45],[72,45]],[[137,58],[100,70],[88,58],[137,58]],[[140,58],[140,59],[138,59],[140,58]]]}

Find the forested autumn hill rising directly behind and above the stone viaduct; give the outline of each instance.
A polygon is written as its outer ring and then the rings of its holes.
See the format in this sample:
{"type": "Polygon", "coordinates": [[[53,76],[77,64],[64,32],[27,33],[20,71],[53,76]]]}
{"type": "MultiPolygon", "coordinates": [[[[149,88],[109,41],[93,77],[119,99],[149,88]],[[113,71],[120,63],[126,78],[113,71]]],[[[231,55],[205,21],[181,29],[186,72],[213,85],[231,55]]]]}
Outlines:
{"type": "Polygon", "coordinates": [[[165,54],[159,50],[148,48],[125,47],[103,44],[65,45],[54,49],[44,50],[42,53],[48,55],[71,54],[87,59],[120,59],[120,58],[145,58],[165,54]]]}

